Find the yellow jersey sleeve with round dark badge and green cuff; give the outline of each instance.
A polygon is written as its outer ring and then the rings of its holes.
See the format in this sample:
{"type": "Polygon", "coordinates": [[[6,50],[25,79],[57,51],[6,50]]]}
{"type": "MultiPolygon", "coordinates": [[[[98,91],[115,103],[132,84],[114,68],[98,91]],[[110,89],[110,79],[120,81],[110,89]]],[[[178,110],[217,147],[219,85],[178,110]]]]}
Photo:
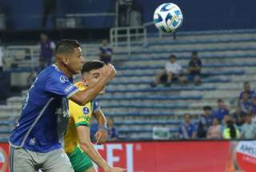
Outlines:
{"type": "Polygon", "coordinates": [[[88,111],[87,107],[79,106],[70,100],[69,103],[70,115],[74,119],[74,126],[87,126],[90,127],[90,117],[85,115],[84,111],[88,111]]]}

